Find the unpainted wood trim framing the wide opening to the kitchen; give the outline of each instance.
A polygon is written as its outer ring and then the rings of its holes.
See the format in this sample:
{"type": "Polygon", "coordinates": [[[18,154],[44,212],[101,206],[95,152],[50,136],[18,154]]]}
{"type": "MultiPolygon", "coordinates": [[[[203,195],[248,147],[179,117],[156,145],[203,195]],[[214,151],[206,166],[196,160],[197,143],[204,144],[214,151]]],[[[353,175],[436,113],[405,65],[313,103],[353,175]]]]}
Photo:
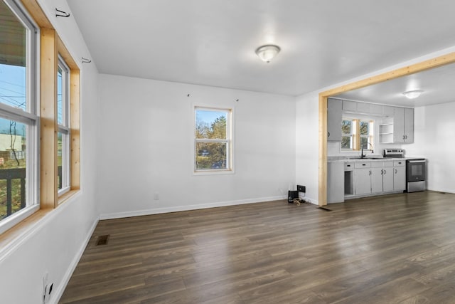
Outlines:
{"type": "Polygon", "coordinates": [[[387,80],[400,78],[432,68],[439,68],[442,65],[450,63],[455,63],[455,52],[414,63],[405,66],[404,68],[397,68],[386,73],[341,85],[337,88],[319,93],[319,206],[325,206],[327,204],[327,98],[350,90],[364,88],[368,85],[383,83],[387,80]]]}

